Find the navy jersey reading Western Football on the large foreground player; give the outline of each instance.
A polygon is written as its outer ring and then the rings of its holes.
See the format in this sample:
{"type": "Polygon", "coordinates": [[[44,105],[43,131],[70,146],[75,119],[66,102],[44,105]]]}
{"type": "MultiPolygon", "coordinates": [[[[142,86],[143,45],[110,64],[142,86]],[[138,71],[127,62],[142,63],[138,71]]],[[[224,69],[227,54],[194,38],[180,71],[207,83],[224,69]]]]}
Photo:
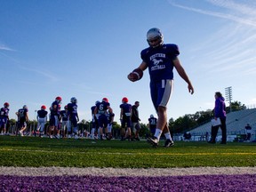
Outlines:
{"type": "Polygon", "coordinates": [[[176,44],[163,44],[160,47],[148,47],[140,52],[141,59],[147,63],[151,82],[173,79],[173,63],[180,54],[176,44]]]}

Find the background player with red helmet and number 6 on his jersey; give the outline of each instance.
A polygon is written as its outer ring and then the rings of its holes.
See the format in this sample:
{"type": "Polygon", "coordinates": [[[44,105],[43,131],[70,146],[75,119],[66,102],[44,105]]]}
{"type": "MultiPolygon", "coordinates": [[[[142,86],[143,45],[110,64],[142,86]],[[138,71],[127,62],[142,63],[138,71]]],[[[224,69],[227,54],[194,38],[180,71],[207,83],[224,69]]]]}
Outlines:
{"type": "Polygon", "coordinates": [[[96,108],[94,109],[94,115],[96,116],[99,114],[98,121],[99,121],[99,128],[100,128],[100,140],[103,140],[103,129],[106,134],[107,140],[108,138],[108,116],[107,113],[112,114],[113,110],[110,108],[110,104],[107,98],[103,98],[100,103],[96,104],[96,108]]]}

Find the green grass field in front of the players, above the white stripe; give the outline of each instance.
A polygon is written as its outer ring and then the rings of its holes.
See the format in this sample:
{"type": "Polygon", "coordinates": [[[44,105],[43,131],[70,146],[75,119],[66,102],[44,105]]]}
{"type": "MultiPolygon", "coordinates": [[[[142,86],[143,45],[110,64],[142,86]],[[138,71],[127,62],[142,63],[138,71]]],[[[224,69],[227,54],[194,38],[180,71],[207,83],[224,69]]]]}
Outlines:
{"type": "Polygon", "coordinates": [[[256,143],[227,145],[176,141],[152,148],[146,141],[56,140],[0,136],[0,166],[164,168],[256,166],[256,143]]]}

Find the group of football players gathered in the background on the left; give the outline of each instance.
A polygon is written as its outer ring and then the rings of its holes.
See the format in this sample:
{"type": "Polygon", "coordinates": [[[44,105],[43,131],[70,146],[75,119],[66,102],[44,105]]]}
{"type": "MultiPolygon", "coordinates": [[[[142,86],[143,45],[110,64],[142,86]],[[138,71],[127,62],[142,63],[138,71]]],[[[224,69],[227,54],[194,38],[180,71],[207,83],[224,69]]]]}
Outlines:
{"type": "MultiPolygon", "coordinates": [[[[42,105],[40,110],[37,110],[37,127],[34,130],[34,135],[39,137],[50,138],[79,138],[78,133],[78,122],[79,117],[77,113],[77,100],[76,97],[70,99],[70,103],[64,107],[64,110],[61,108],[61,97],[58,96],[52,102],[50,109],[50,114],[46,110],[46,106],[42,105]],[[50,118],[49,125],[46,127],[48,116],[50,118]]],[[[0,111],[0,128],[1,133],[7,133],[7,124],[9,121],[9,103],[4,103],[4,108],[1,108],[0,111]]],[[[138,108],[140,102],[136,101],[132,106],[126,97],[122,99],[122,104],[120,105],[120,121],[121,121],[121,140],[140,140],[140,118],[138,108]],[[132,137],[133,133],[133,137],[132,137]]],[[[107,98],[103,98],[101,101],[97,100],[95,105],[92,106],[92,130],[91,138],[100,139],[100,140],[111,140],[112,139],[112,126],[115,114],[113,109],[110,107],[107,98]]],[[[24,105],[16,113],[18,117],[17,122],[17,132],[23,136],[24,132],[27,129],[28,122],[28,107],[24,105]]],[[[156,129],[156,118],[151,115],[148,118],[150,125],[150,130],[152,133],[156,129]],[[153,131],[152,131],[153,130],[153,131]]]]}

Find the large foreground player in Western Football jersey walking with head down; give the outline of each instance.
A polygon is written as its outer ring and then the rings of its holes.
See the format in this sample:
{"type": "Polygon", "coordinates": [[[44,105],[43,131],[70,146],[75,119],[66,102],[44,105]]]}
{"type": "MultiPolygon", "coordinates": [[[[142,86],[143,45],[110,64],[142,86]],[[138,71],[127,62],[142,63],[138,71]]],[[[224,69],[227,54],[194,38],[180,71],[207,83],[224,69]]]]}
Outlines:
{"type": "MultiPolygon", "coordinates": [[[[148,142],[154,147],[158,146],[163,132],[166,138],[164,147],[170,147],[174,143],[167,126],[166,107],[172,93],[173,68],[188,84],[188,92],[193,94],[194,88],[178,59],[180,54],[178,46],[176,44],[164,44],[164,36],[159,28],[150,28],[148,30],[147,41],[149,47],[140,52],[142,62],[139,68],[142,71],[148,68],[151,100],[158,116],[156,132],[153,138],[148,138],[148,142]]],[[[132,82],[135,81],[130,74],[128,79],[132,82]]]]}

